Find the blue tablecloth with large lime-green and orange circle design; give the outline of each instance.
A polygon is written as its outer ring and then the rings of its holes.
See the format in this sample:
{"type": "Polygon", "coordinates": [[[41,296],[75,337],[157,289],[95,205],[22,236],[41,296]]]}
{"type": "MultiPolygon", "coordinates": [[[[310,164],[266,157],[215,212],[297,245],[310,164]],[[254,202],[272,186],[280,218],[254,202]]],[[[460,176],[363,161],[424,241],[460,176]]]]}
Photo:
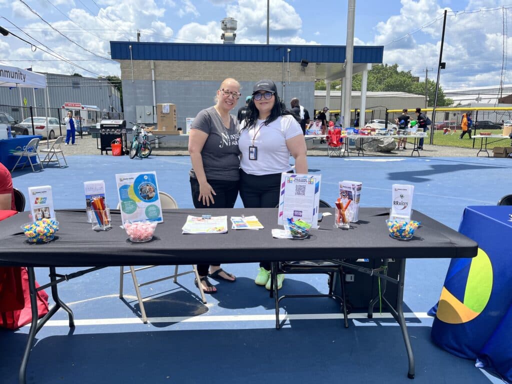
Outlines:
{"type": "Polygon", "coordinates": [[[432,339],[512,383],[512,206],[470,206],[459,232],[478,243],[474,259],[452,259],[432,339]]]}

